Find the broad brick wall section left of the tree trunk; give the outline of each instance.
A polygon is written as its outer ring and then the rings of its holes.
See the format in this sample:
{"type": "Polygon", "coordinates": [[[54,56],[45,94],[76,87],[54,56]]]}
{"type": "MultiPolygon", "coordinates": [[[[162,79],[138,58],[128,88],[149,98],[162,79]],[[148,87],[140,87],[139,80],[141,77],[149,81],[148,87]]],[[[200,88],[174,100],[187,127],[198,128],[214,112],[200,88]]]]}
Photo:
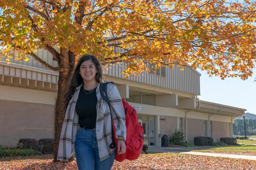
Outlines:
{"type": "Polygon", "coordinates": [[[54,137],[54,105],[0,100],[0,144],[16,146],[22,137],[54,137]]]}

